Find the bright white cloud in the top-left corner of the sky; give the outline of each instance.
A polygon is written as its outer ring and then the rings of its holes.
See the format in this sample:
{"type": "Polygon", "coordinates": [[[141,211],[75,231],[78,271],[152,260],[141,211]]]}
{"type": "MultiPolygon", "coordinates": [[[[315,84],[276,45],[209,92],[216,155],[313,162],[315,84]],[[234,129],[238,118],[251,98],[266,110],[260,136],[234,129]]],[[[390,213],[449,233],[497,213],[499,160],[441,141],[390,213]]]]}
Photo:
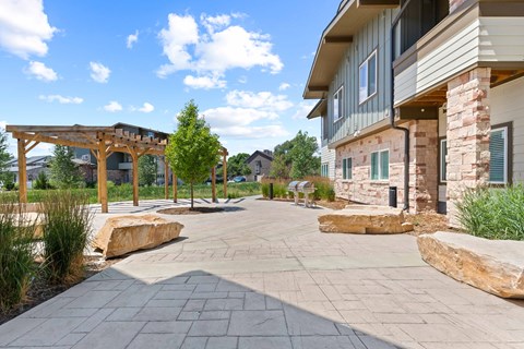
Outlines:
{"type": "Polygon", "coordinates": [[[43,0],[0,1],[0,47],[22,59],[46,56],[46,41],[57,28],[49,24],[43,0]]]}

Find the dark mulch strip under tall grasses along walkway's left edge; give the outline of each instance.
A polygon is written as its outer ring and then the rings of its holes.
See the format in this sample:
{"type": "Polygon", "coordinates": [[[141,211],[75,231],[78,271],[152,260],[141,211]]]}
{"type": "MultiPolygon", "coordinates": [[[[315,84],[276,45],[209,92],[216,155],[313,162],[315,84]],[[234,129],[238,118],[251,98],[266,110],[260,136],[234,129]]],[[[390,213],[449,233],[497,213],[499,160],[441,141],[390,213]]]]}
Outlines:
{"type": "Polygon", "coordinates": [[[75,284],[50,284],[41,275],[37,275],[33,280],[29,290],[27,291],[26,300],[23,303],[19,304],[16,308],[12,309],[9,313],[0,312],[0,325],[25,313],[32,308],[44,303],[45,301],[53,298],[55,296],[62,293],[74,285],[78,285],[83,280],[92,277],[93,275],[100,273],[112,264],[120,262],[122,258],[104,261],[99,260],[98,257],[87,258],[85,262],[85,275],[81,280],[75,284]]]}

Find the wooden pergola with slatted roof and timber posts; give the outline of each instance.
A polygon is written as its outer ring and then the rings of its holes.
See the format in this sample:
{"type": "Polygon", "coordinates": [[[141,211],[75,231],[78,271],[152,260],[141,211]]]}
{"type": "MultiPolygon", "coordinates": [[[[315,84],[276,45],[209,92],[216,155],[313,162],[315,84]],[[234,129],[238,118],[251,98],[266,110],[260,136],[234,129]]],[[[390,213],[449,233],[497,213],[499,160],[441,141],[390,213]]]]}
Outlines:
{"type": "MultiPolygon", "coordinates": [[[[27,203],[26,156],[39,143],[73,146],[90,149],[97,161],[98,202],[102,212],[108,212],[107,158],[114,153],[131,155],[133,172],[133,205],[139,205],[139,158],[145,154],[157,155],[164,161],[165,198],[169,198],[169,166],[165,149],[167,140],[153,139],[130,133],[115,127],[84,125],[7,125],[5,131],[17,140],[19,195],[21,203],[27,203]]],[[[222,147],[224,170],[224,197],[227,197],[227,149],[222,147]]],[[[177,176],[172,171],[174,202],[177,202],[177,176]]],[[[216,202],[216,169],[212,169],[212,200],[216,202]]]]}

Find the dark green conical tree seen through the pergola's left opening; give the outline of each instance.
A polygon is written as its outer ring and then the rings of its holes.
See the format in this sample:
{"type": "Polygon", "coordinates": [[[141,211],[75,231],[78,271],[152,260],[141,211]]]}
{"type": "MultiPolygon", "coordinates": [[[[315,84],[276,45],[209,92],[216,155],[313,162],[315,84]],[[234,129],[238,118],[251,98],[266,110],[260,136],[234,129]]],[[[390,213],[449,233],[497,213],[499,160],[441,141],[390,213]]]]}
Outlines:
{"type": "Polygon", "coordinates": [[[80,169],[73,163],[73,149],[64,145],[56,145],[50,161],[50,182],[59,189],[79,188],[84,181],[80,169]]]}

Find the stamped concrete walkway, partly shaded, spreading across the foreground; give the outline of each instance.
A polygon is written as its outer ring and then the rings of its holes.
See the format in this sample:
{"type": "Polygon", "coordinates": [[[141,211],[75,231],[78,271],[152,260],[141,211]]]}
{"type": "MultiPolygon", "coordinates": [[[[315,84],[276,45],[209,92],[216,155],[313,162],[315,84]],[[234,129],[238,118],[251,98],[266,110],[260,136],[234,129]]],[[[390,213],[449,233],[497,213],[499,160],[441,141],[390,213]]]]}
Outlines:
{"type": "Polygon", "coordinates": [[[0,326],[0,347],[524,348],[524,302],[436,272],[412,236],[323,234],[323,209],[282,202],[224,206],[165,216],[181,239],[0,326]]]}

